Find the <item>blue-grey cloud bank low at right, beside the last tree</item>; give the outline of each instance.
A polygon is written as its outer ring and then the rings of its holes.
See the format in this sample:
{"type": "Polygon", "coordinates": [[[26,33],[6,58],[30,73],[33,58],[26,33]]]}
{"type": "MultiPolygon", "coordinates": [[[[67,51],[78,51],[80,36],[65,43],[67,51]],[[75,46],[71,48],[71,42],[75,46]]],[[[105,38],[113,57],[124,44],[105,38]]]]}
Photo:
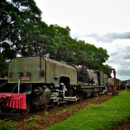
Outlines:
{"type": "MultiPolygon", "coordinates": [[[[115,50],[109,52],[110,58],[106,62],[116,69],[116,75],[118,79],[126,80],[130,79],[130,40],[127,40],[126,44],[122,44],[122,41],[113,42],[112,48],[115,50]]],[[[107,44],[107,43],[106,43],[107,44]]],[[[109,43],[108,43],[109,44],[109,43]]],[[[112,74],[113,76],[113,74],[112,74]]]]}

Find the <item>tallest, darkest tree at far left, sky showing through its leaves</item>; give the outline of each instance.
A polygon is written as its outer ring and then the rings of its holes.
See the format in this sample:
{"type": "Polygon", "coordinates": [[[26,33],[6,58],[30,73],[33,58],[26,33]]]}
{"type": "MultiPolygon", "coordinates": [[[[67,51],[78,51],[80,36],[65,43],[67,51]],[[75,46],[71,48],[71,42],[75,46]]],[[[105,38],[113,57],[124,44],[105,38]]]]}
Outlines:
{"type": "Polygon", "coordinates": [[[26,47],[24,38],[27,40],[30,35],[25,32],[38,26],[41,22],[41,11],[34,0],[2,0],[0,17],[0,48],[6,59],[12,59],[26,47]],[[6,54],[7,50],[13,54],[6,54]]]}

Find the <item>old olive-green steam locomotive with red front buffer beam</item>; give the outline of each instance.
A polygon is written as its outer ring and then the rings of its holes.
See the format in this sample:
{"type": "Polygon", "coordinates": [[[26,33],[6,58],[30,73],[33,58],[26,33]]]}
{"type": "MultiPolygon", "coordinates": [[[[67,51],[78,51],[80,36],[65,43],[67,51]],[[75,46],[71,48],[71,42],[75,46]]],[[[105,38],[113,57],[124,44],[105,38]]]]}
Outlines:
{"type": "Polygon", "coordinates": [[[0,86],[0,111],[28,113],[98,95],[107,88],[108,77],[98,70],[41,56],[15,58],[8,66],[8,83],[0,86]]]}

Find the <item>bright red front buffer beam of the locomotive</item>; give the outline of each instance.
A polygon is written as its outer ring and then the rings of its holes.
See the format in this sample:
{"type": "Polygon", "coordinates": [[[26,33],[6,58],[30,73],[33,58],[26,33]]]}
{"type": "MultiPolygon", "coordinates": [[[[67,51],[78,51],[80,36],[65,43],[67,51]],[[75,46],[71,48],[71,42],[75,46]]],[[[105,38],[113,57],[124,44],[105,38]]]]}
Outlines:
{"type": "Polygon", "coordinates": [[[7,107],[26,109],[26,94],[0,93],[0,102],[7,102],[7,107]]]}

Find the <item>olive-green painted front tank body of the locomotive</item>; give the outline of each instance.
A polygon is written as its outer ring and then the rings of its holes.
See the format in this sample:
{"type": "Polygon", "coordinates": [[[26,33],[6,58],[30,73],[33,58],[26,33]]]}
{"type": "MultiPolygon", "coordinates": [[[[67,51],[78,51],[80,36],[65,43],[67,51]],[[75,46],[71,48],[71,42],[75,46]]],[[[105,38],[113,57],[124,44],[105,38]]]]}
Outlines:
{"type": "Polygon", "coordinates": [[[26,57],[13,59],[8,68],[8,82],[18,83],[21,77],[29,77],[30,80],[21,80],[21,83],[55,83],[59,84],[61,77],[70,79],[70,85],[77,84],[77,71],[67,64],[43,57],[26,57]],[[40,72],[44,72],[41,76],[40,72]],[[28,75],[30,73],[30,76],[28,75]]]}

